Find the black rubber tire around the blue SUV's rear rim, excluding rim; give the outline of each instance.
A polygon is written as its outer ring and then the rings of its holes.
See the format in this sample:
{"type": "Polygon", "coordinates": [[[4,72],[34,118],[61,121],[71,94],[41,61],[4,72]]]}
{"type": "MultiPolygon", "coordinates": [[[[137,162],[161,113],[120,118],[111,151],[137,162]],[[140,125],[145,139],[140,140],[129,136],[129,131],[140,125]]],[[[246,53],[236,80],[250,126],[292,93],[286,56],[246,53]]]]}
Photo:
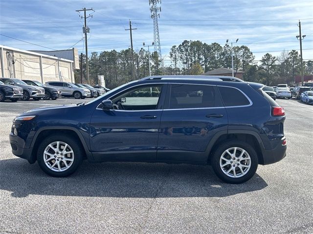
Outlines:
{"type": "Polygon", "coordinates": [[[218,148],[213,152],[213,155],[211,157],[211,165],[216,175],[224,182],[231,184],[240,184],[246,182],[252,176],[254,176],[258,168],[258,156],[255,150],[252,148],[252,146],[249,145],[248,143],[240,140],[230,140],[220,144],[218,148]],[[220,167],[220,157],[222,156],[226,149],[229,149],[231,147],[240,147],[246,150],[246,152],[249,154],[251,158],[251,167],[245,176],[238,178],[226,176],[220,167]]]}

